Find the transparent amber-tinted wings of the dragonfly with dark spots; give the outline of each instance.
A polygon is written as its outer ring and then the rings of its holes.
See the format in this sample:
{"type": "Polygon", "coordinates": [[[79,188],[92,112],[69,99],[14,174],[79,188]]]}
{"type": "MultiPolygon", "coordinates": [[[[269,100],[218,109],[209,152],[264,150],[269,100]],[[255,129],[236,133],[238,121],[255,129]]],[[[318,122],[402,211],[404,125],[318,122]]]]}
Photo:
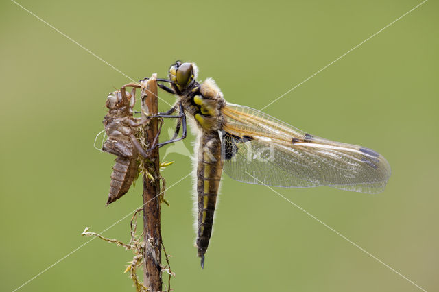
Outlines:
{"type": "Polygon", "coordinates": [[[312,136],[246,106],[227,104],[222,113],[224,172],[235,180],[380,193],[390,177],[387,160],[372,149],[312,136]]]}

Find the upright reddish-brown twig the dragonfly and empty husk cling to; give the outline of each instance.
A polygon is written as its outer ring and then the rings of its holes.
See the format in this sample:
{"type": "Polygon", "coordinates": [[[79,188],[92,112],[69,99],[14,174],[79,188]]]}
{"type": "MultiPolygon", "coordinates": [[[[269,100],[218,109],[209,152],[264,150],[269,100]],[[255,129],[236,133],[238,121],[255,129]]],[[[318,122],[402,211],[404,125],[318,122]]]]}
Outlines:
{"type": "MultiPolygon", "coordinates": [[[[157,114],[157,80],[156,74],[141,82],[142,117],[157,114]]],[[[158,119],[152,118],[143,128],[145,145],[150,149],[154,138],[158,136],[158,119]]],[[[143,254],[143,284],[151,292],[162,291],[161,278],[161,220],[160,220],[160,161],[158,147],[149,152],[143,168],[143,234],[145,247],[143,254]],[[146,175],[149,173],[150,175],[146,175]]]]}

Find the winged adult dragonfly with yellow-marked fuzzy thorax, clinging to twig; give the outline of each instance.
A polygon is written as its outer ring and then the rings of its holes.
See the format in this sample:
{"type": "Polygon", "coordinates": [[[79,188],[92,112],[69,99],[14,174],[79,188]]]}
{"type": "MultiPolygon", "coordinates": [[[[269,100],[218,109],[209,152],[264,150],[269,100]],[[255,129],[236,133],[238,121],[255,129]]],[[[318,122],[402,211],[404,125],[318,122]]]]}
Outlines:
{"type": "Polygon", "coordinates": [[[176,96],[176,104],[154,117],[178,119],[174,136],[158,147],[186,138],[187,115],[198,136],[194,151],[196,245],[202,268],[223,172],[239,182],[265,186],[331,186],[361,193],[384,190],[391,171],[381,154],[320,138],[259,110],[230,104],[215,80],[198,82],[197,76],[198,67],[193,62],[172,64],[169,79],[157,81],[164,83],[158,84],[160,88],[176,96]]]}

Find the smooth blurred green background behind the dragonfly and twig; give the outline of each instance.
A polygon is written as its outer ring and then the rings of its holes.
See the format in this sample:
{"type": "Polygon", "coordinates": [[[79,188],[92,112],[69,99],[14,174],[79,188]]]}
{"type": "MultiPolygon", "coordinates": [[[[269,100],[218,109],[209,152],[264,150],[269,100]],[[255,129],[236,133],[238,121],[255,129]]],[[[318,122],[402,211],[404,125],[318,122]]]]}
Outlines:
{"type": "MultiPolygon", "coordinates": [[[[19,3],[134,80],[190,60],[226,100],[262,108],[420,1],[19,3]]],[[[388,159],[379,195],[276,191],[428,291],[439,289],[438,8],[421,5],[264,110],[388,159]]],[[[11,1],[0,16],[0,290],[12,291],[86,243],[86,226],[100,232],[138,208],[141,184],[104,208],[114,157],[93,141],[108,92],[130,80],[11,1]]],[[[187,156],[166,160],[168,186],[191,169],[187,156]]],[[[226,175],[202,270],[192,188],[169,187],[163,206],[175,291],[420,291],[269,188],[226,175]]],[[[128,223],[104,235],[128,241],[128,223]]],[[[93,240],[19,291],[134,291],[131,259],[93,240]]]]}

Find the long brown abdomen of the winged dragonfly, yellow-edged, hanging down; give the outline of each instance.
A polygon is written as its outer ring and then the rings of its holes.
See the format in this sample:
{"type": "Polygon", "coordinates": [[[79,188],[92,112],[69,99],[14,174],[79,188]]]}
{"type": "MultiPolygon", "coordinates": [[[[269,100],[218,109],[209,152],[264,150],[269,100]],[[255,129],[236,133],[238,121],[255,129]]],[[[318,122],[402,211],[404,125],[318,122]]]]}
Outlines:
{"type": "Polygon", "coordinates": [[[219,181],[223,162],[221,160],[221,141],[217,131],[203,132],[198,149],[197,193],[198,193],[198,256],[206,253],[211,239],[213,214],[217,202],[219,181]]]}

